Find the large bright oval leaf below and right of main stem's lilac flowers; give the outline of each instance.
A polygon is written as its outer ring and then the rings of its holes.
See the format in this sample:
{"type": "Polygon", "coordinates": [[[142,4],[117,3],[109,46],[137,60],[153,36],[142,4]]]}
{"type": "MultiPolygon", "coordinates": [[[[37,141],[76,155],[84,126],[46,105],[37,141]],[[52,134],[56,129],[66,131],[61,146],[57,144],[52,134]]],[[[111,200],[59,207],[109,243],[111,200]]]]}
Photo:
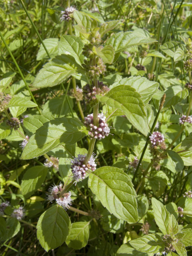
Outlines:
{"type": "Polygon", "coordinates": [[[137,222],[136,192],[129,176],[116,167],[101,167],[89,174],[88,187],[118,219],[137,222]]]}

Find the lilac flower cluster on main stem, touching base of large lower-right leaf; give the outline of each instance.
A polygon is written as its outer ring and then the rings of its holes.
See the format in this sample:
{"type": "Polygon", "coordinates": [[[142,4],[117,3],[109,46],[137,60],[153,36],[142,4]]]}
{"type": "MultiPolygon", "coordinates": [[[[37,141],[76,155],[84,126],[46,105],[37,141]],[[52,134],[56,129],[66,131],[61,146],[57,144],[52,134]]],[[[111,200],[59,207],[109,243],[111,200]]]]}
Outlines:
{"type": "Polygon", "coordinates": [[[91,170],[94,172],[96,170],[96,163],[94,155],[92,155],[88,161],[88,163],[85,165],[84,160],[86,158],[85,155],[78,154],[77,157],[74,157],[71,159],[71,169],[73,173],[73,178],[78,182],[81,179],[84,179],[86,176],[86,171],[91,170]]]}

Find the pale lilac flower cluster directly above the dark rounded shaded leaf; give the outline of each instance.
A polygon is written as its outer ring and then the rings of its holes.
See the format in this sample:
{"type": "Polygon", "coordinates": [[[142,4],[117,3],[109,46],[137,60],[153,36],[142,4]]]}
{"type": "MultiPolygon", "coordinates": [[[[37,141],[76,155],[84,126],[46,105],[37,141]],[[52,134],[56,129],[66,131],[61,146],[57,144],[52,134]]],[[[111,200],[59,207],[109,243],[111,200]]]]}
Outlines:
{"type": "Polygon", "coordinates": [[[60,206],[62,206],[64,209],[69,208],[69,205],[71,205],[73,199],[71,199],[71,191],[64,193],[62,196],[59,196],[59,194],[62,191],[63,185],[60,183],[58,186],[53,186],[49,188],[49,194],[47,197],[47,200],[50,202],[53,200],[56,200],[56,203],[60,206]]]}

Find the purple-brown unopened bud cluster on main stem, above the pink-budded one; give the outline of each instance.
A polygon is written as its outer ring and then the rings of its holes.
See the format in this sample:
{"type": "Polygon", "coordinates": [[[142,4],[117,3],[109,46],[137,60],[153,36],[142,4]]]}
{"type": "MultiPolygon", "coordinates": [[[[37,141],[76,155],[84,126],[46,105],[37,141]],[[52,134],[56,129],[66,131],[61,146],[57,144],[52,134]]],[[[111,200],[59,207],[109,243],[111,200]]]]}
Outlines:
{"type": "Polygon", "coordinates": [[[108,86],[99,81],[97,87],[95,87],[92,82],[92,85],[86,84],[82,89],[84,100],[86,101],[86,104],[90,105],[91,107],[98,103],[98,100],[96,100],[96,95],[104,96],[110,90],[108,86]]]}

